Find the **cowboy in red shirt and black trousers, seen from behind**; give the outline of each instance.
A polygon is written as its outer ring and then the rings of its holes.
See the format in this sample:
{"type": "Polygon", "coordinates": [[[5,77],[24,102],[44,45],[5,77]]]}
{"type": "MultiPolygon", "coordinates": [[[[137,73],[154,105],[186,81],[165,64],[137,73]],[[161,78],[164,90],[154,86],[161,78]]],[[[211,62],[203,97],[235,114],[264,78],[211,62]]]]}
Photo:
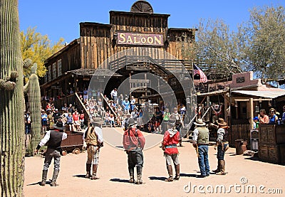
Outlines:
{"type": "Polygon", "coordinates": [[[129,183],[135,183],[134,168],[137,166],[137,184],[142,184],[142,166],[143,154],[145,147],[145,137],[143,137],[140,129],[137,129],[137,122],[133,118],[128,120],[128,129],[123,135],[123,146],[128,154],[128,170],[130,174],[129,183]]]}

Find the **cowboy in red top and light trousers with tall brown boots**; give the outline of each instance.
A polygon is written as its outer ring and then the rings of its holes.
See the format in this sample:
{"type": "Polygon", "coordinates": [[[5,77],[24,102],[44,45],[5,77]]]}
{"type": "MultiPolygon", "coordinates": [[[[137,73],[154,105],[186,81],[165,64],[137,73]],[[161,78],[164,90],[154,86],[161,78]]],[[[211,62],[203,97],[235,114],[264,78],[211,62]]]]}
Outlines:
{"type": "Polygon", "coordinates": [[[168,171],[168,179],[165,181],[173,181],[172,162],[175,166],[175,180],[180,179],[180,163],[178,159],[177,144],[180,139],[180,132],[175,128],[176,116],[171,115],[167,122],[167,131],[165,132],[162,140],[162,150],[164,151],[166,166],[168,171]]]}

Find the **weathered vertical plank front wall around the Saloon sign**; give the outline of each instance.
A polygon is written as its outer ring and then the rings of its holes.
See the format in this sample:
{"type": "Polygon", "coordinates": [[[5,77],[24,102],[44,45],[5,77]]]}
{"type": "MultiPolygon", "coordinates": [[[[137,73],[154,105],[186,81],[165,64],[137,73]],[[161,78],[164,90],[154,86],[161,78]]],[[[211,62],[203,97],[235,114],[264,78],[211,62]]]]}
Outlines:
{"type": "MultiPolygon", "coordinates": [[[[125,50],[131,49],[129,55],[150,55],[154,59],[168,58],[167,53],[176,58],[183,59],[181,42],[177,37],[182,36],[182,31],[171,30],[167,27],[168,15],[163,14],[135,14],[110,11],[110,25],[100,23],[81,23],[81,67],[82,68],[107,68],[108,62],[128,55],[125,50]],[[162,33],[163,41],[170,34],[168,48],[112,46],[113,35],[117,31],[162,33]],[[162,50],[162,51],[161,51],[162,50]],[[163,52],[164,51],[164,52],[163,52]],[[112,55],[113,58],[109,59],[112,55]],[[105,63],[104,63],[105,61],[105,63]]],[[[189,35],[192,32],[187,31],[189,35]]],[[[172,57],[173,58],[173,57],[172,57]]]]}

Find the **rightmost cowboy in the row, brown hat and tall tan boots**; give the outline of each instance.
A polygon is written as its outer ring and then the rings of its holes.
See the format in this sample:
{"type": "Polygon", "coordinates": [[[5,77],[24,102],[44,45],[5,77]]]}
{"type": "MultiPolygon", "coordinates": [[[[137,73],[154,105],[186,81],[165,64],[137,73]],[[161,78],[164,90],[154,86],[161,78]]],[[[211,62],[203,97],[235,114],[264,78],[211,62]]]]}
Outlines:
{"type": "Polygon", "coordinates": [[[217,159],[218,159],[218,166],[217,169],[214,170],[214,173],[217,175],[225,175],[227,174],[225,169],[225,161],[224,161],[224,152],[229,149],[229,142],[228,142],[228,126],[227,122],[224,122],[224,119],[219,118],[216,120],[218,124],[217,130],[217,159]]]}

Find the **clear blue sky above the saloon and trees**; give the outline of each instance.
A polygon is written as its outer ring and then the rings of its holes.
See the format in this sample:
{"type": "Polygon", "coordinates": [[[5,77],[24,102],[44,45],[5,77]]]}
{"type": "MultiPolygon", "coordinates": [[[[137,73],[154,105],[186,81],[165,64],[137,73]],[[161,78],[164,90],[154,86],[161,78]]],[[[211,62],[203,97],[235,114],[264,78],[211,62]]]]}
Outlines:
{"type": "MultiPolygon", "coordinates": [[[[135,0],[19,0],[20,30],[36,27],[53,42],[79,38],[79,23],[109,23],[109,11],[130,11],[135,0]]],[[[170,14],[170,28],[195,28],[201,18],[221,19],[233,31],[254,6],[284,6],[284,0],[149,0],[157,14],[170,14]]]]}

